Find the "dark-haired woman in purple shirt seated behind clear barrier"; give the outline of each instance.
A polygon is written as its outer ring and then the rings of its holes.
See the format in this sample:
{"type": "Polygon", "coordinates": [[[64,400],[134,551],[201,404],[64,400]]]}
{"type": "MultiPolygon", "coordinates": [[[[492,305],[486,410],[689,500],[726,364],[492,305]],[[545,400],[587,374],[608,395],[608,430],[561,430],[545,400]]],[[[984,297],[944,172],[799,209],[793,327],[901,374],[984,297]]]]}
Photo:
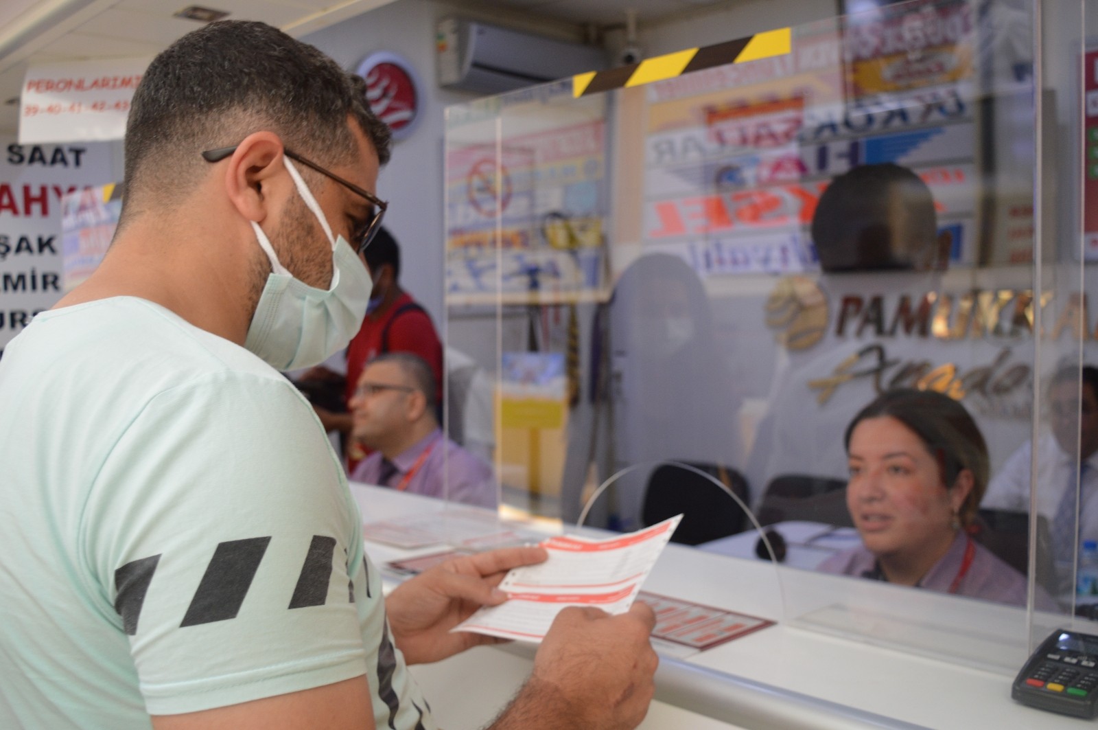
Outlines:
{"type": "MultiPolygon", "coordinates": [[[[968,532],[989,466],[984,436],[961,403],[932,390],[889,390],[854,417],[844,443],[847,508],[862,544],[820,571],[1026,604],[1026,577],[968,532]]],[[[1038,591],[1038,607],[1054,609],[1038,591]]]]}

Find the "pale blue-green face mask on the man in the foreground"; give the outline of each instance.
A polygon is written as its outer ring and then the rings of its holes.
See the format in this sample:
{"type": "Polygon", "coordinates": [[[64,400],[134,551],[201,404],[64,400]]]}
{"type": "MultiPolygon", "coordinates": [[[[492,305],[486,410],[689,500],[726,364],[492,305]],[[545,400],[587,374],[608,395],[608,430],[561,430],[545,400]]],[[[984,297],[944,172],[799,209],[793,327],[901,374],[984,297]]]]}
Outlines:
{"type": "Polygon", "coordinates": [[[362,325],[372,283],[346,239],[332,237],[324,212],[293,163],[289,158],[283,162],[332,244],[332,286],[317,289],[294,278],[279,263],[267,234],[253,221],[251,229],[270,259],[271,273],[251,316],[244,346],[271,367],[291,370],[323,363],[347,346],[362,325]]]}

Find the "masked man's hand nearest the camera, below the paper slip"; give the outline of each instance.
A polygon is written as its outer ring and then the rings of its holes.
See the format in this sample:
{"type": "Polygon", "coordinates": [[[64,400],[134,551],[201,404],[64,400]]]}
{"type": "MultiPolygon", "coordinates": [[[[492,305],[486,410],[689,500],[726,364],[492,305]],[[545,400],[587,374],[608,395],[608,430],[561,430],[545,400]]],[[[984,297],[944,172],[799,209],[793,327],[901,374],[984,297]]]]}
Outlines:
{"type": "Polygon", "coordinates": [[[636,728],[656,692],[654,626],[641,602],[620,616],[565,608],[538,649],[534,674],[492,730],[636,728]]]}

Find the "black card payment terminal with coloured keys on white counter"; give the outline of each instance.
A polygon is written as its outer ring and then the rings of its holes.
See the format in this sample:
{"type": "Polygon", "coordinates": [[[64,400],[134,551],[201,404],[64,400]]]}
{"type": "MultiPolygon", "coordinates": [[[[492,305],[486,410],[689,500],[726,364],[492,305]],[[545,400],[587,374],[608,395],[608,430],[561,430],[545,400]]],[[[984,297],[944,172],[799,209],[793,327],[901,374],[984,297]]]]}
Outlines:
{"type": "Polygon", "coordinates": [[[1098,637],[1053,631],[1018,673],[1010,696],[1042,710],[1093,718],[1098,712],[1098,637]]]}

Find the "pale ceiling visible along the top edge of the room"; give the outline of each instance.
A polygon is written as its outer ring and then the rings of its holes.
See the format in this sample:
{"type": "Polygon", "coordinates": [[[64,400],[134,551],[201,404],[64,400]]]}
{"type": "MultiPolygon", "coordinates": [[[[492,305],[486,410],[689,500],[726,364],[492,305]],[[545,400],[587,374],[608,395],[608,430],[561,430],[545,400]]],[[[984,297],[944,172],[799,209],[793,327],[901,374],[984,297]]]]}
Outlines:
{"type": "MultiPolygon", "coordinates": [[[[229,18],[261,20],[302,36],[393,0],[194,0],[229,18]]],[[[578,26],[623,24],[626,9],[650,22],[716,0],[477,0],[578,26]]],[[[731,0],[722,0],[729,2],[731,0]]],[[[29,65],[153,56],[198,22],[173,16],[191,0],[3,0],[0,4],[0,133],[18,130],[18,97],[29,65]]]]}

